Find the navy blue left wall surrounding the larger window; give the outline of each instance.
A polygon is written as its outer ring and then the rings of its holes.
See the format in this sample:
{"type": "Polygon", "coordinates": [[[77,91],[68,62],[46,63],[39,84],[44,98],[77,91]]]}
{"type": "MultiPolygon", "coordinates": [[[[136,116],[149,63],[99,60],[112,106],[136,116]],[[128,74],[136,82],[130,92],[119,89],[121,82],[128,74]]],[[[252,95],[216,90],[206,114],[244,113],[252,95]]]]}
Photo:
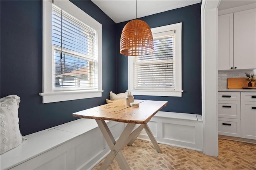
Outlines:
{"type": "MultiPolygon", "coordinates": [[[[16,94],[22,135],[74,120],[116,89],[116,23],[91,1],[72,1],[102,24],[102,97],[42,104],[42,2],[1,1],[1,97],[16,94]]],[[[50,69],[50,68],[49,68],[50,69]]]]}

